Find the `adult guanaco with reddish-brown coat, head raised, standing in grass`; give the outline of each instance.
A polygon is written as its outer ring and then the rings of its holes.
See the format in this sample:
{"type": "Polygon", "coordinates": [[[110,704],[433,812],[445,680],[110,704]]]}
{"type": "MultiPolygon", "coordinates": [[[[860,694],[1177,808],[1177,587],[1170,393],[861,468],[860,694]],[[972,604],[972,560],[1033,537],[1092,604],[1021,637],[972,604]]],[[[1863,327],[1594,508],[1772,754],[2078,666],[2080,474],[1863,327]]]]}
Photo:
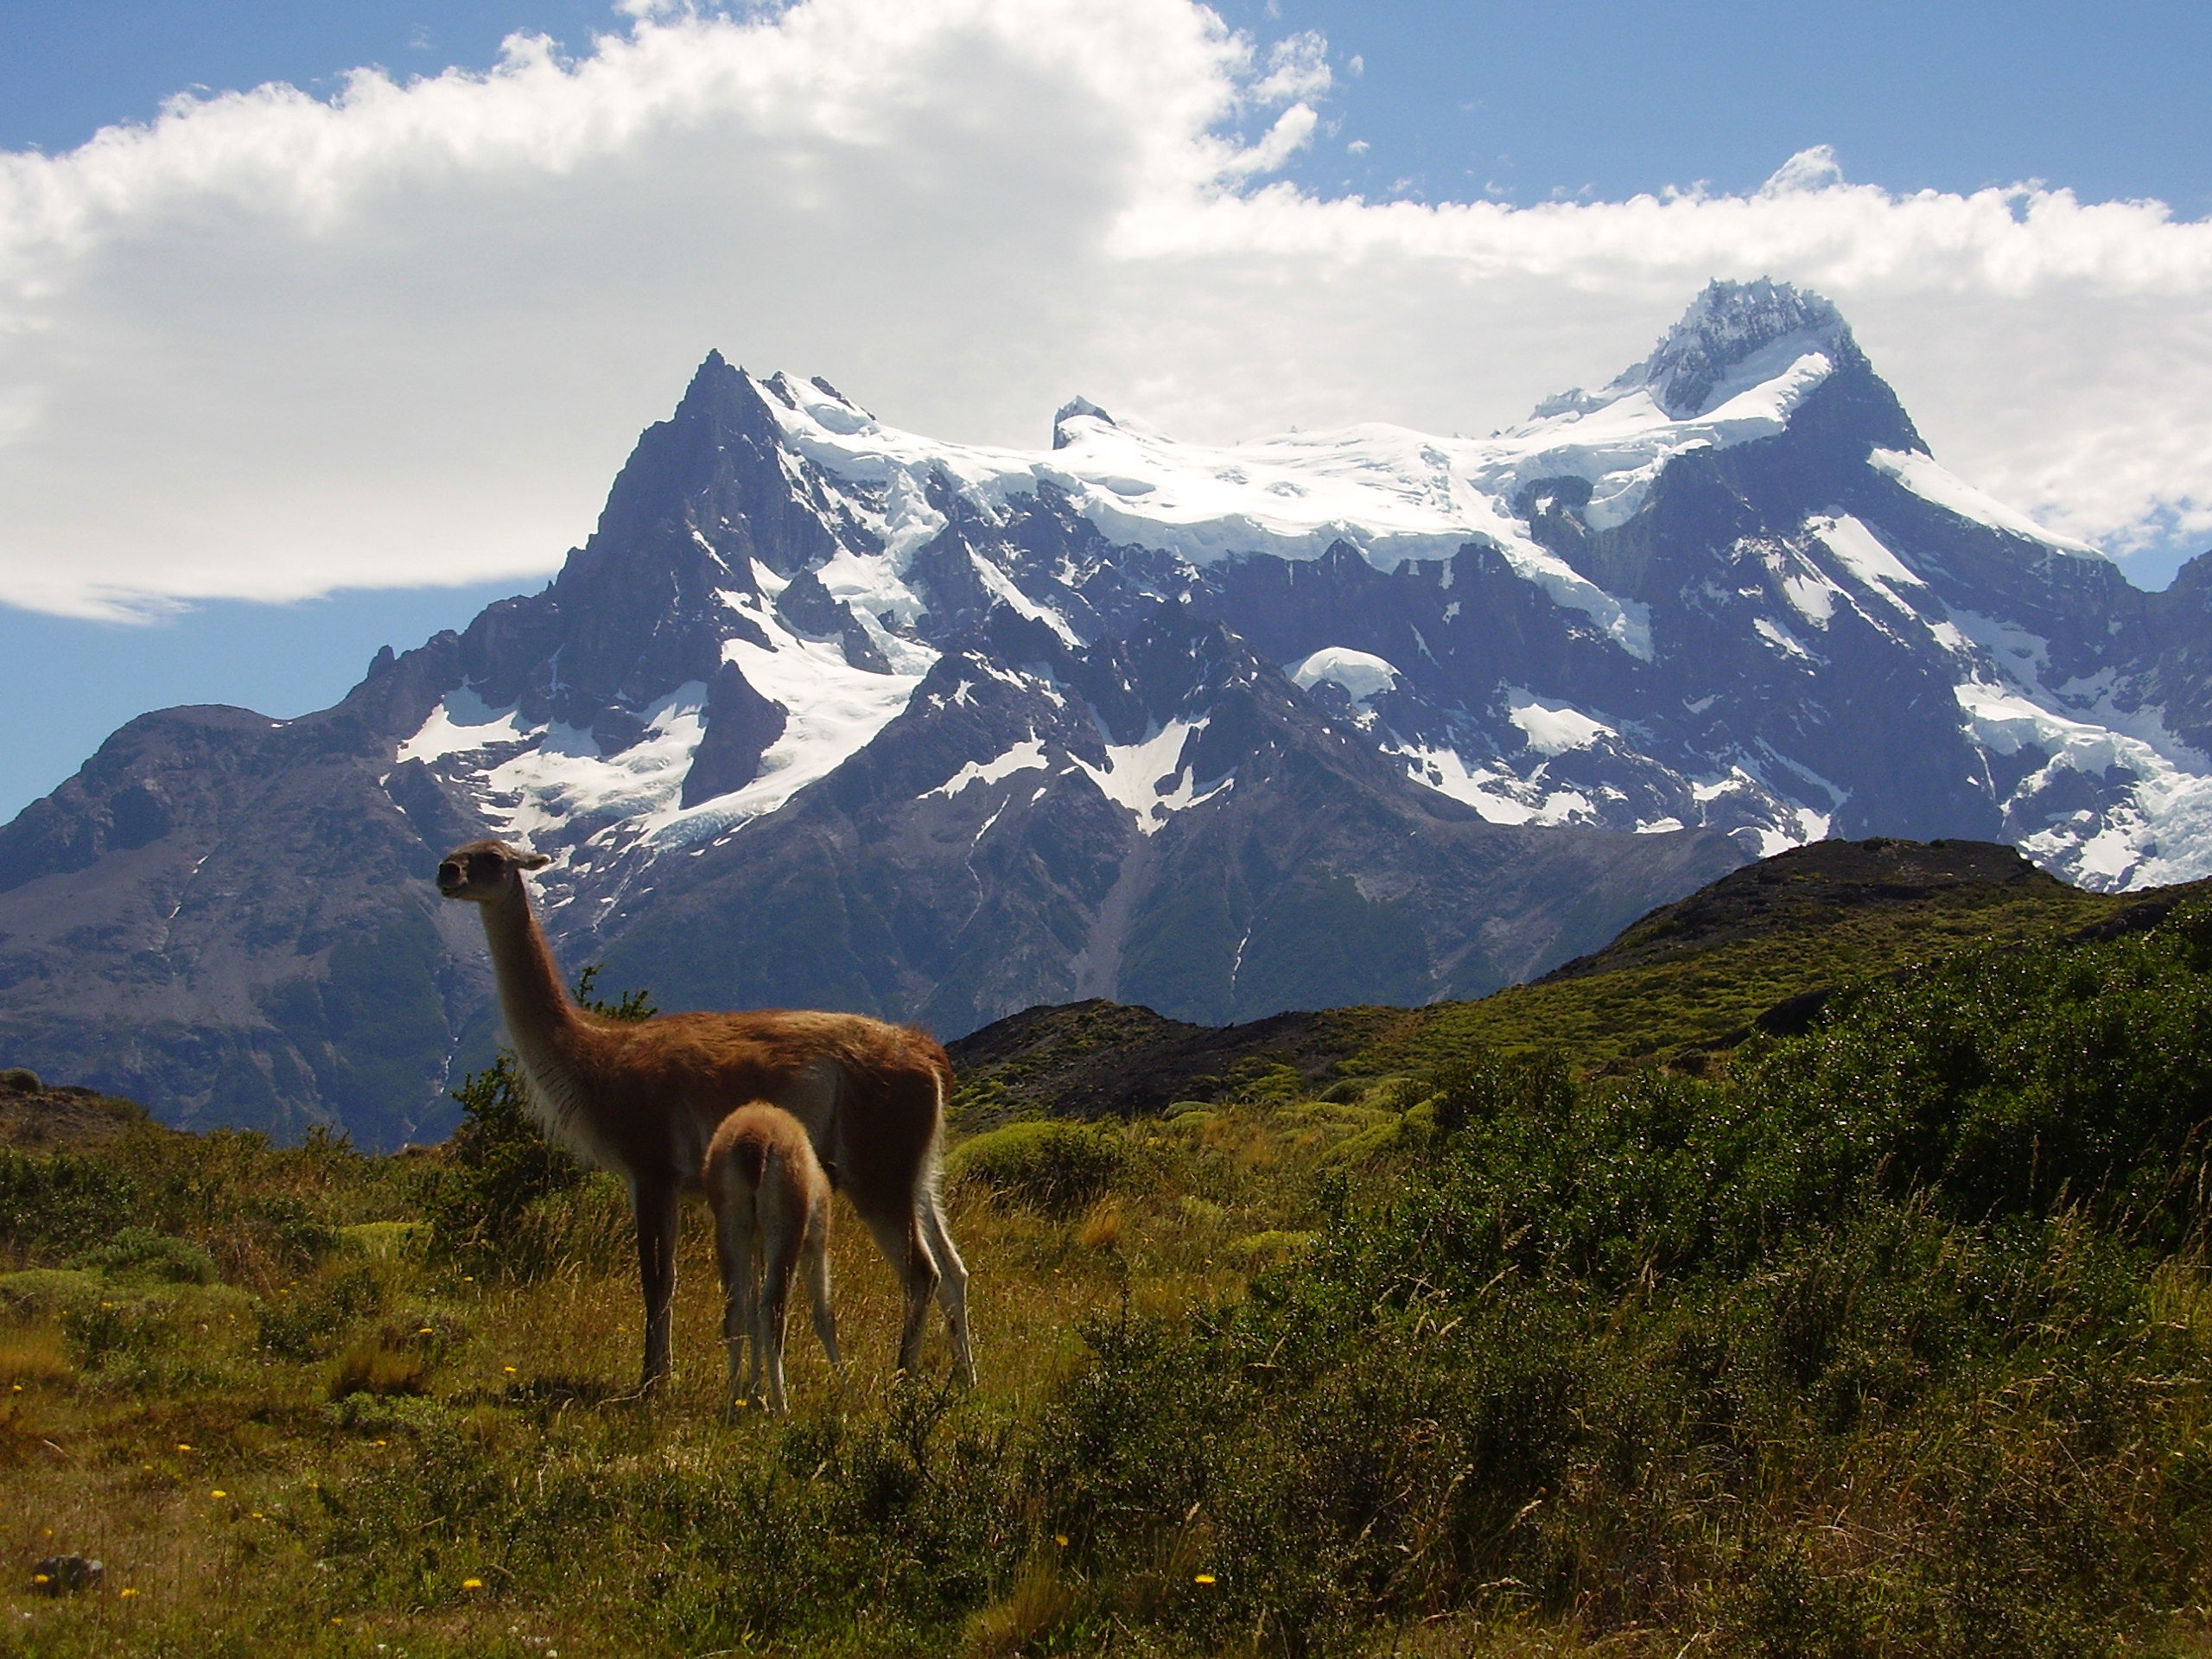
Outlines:
{"type": "Polygon", "coordinates": [[[562,987],[522,872],[544,854],[471,841],[438,865],[438,891],[478,905],[500,1009],[526,1097],[546,1133],[617,1170],[637,1212],[650,1389],[668,1374],[677,1194],[701,1183],[721,1121],[748,1102],[801,1121],[905,1287],[898,1365],[916,1367],[931,1294],[945,1305],[956,1365],[973,1383],[967,1267],[938,1203],[938,1141],[951,1062],[914,1026],[858,1013],[763,1009],[608,1020],[562,987]]]}

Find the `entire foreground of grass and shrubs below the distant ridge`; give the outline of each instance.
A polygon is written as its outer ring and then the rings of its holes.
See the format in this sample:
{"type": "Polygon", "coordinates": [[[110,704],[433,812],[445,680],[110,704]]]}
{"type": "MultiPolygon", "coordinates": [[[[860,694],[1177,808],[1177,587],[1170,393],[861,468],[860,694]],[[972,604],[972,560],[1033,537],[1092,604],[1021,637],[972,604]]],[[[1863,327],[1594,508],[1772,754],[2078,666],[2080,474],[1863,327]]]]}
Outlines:
{"type": "Polygon", "coordinates": [[[982,1387],[843,1225],[785,1420],[699,1212],[628,1396],[619,1192],[498,1077],[396,1159],[18,1137],[0,1655],[2208,1655],[2212,905],[1958,945],[1699,1075],[978,1119],[982,1387]]]}

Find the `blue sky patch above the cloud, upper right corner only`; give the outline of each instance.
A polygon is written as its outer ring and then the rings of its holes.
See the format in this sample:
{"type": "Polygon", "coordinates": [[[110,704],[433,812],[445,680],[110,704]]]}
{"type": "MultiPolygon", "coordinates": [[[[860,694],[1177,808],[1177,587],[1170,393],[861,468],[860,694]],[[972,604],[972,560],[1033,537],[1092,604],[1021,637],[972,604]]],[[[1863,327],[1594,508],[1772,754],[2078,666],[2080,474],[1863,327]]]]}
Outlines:
{"type": "MultiPolygon", "coordinates": [[[[1267,7],[1232,7],[1256,22],[1267,7]]],[[[1851,179],[1975,190],[2048,179],[2084,197],[2212,208],[2212,7],[1847,0],[1827,4],[1305,4],[1276,0],[1365,73],[1343,137],[1298,177],[1429,197],[1504,188],[1619,199],[1705,179],[1756,188],[1832,146],[1851,179]]]]}

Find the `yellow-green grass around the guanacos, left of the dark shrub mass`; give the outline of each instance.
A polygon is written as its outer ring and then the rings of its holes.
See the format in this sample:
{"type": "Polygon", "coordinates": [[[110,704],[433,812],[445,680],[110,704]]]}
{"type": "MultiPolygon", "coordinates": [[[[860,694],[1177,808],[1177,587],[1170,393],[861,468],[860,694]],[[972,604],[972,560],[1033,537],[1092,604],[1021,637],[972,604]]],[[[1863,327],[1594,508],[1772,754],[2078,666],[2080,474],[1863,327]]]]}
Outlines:
{"type": "Polygon", "coordinates": [[[1296,1245],[1285,1223],[1312,1225],[1325,1141],[1385,1117],[1077,1130],[1033,1194],[956,1181],[975,1396],[942,1387],[940,1325],[931,1380],[894,1389],[896,1283],[843,1225],[847,1369],[801,1312],[783,1422],[723,1411],[703,1206],[675,1387],[648,1405],[611,1177],[524,1201],[507,1239],[453,1239],[442,1159],[150,1124],[15,1155],[0,1212],[31,1265],[0,1274],[0,1652],[1013,1652],[1031,1615],[993,1635],[991,1608],[1064,1566],[1022,1493],[1026,1429],[1084,1332],[1239,1296],[1296,1245]],[[104,1588],[38,1595],[31,1564],[60,1553],[102,1559],[104,1588]]]}

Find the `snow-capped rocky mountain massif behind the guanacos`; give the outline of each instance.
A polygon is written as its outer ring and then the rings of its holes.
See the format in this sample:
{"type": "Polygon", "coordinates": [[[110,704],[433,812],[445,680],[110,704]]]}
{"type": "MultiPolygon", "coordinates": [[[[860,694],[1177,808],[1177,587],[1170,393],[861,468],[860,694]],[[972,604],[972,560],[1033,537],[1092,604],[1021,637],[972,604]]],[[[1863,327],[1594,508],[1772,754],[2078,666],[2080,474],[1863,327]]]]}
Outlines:
{"type": "Polygon", "coordinates": [[[1832,834],[2183,880],[2208,624],[2212,560],[2146,595],[1980,495],[1770,283],[1480,440],[1075,400],[969,449],[710,356],[542,593],[321,714],[146,714],[0,830],[0,1057],[436,1139],[478,834],[611,987],[947,1037],[1482,995],[1832,834]]]}

